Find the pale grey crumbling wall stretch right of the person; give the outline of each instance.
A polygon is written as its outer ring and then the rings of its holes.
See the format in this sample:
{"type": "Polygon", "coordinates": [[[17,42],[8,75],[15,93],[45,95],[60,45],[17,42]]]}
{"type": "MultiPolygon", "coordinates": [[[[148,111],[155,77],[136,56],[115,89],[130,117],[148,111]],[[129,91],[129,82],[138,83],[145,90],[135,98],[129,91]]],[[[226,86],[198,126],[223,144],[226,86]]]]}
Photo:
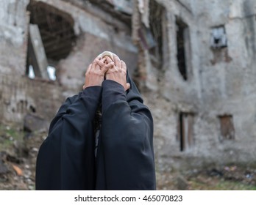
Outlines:
{"type": "Polygon", "coordinates": [[[139,69],[146,65],[141,87],[154,116],[157,169],[255,163],[255,1],[156,0],[165,8],[168,45],[160,68],[141,45],[146,20],[139,6],[146,1],[136,2],[133,40],[141,47],[139,69]]]}

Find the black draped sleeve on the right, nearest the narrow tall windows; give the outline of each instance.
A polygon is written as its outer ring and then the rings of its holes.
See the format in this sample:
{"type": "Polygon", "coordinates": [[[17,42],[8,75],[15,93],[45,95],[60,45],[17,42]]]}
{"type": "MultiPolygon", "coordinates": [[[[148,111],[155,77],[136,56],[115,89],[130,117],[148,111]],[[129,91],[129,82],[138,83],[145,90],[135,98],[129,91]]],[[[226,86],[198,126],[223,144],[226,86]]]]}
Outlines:
{"type": "Polygon", "coordinates": [[[153,119],[141,97],[115,81],[102,83],[98,190],[155,190],[153,119]],[[129,98],[129,99],[128,99],[129,98]]]}

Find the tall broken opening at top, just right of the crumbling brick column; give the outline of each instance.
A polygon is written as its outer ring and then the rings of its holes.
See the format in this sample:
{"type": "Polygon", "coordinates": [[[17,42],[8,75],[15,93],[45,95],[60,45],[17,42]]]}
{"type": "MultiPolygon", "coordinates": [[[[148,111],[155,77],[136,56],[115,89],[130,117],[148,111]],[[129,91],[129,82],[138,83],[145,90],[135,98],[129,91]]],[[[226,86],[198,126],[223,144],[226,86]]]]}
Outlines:
{"type": "MultiPolygon", "coordinates": [[[[149,31],[152,34],[154,44],[149,49],[152,64],[157,68],[163,66],[163,53],[165,47],[163,47],[163,41],[166,38],[165,32],[163,32],[163,23],[166,20],[165,8],[158,4],[155,0],[149,1],[149,31]]],[[[167,44],[166,44],[167,45],[167,44]]]]}

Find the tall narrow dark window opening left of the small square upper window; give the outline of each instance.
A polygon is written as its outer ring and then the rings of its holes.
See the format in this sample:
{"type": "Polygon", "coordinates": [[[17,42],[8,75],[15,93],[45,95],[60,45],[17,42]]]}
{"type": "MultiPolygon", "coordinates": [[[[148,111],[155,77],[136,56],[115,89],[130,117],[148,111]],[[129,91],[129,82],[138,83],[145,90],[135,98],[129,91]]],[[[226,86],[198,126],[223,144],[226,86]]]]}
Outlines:
{"type": "Polygon", "coordinates": [[[188,25],[176,17],[177,65],[182,78],[188,80],[188,67],[190,67],[190,40],[188,25]]]}

